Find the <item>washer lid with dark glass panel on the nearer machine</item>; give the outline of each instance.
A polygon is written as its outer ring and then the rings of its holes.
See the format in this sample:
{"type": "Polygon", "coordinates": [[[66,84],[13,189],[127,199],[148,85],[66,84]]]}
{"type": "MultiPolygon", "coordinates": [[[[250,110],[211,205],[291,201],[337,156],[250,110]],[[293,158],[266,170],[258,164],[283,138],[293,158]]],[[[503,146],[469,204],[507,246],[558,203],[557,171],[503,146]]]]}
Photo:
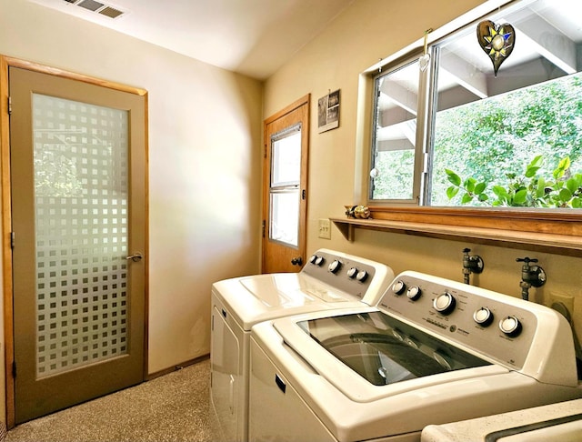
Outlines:
{"type": "Polygon", "coordinates": [[[273,326],[309,366],[356,402],[507,373],[373,308],[284,317],[273,326]]]}

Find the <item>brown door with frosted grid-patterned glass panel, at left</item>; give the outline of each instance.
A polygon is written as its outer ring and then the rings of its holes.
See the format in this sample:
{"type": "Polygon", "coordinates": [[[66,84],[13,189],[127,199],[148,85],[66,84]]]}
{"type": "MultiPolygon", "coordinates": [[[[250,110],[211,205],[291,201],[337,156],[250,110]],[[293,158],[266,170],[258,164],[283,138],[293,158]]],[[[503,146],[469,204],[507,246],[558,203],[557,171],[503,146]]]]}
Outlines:
{"type": "Polygon", "coordinates": [[[15,423],[146,374],[146,98],[9,68],[15,423]]]}

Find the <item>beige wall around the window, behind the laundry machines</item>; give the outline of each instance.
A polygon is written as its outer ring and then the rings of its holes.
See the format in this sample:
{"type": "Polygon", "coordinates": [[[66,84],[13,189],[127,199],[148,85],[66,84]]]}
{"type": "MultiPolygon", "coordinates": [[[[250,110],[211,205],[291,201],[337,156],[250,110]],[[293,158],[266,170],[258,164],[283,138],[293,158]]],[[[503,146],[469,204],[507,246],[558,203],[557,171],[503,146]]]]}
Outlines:
{"type": "Polygon", "coordinates": [[[516,258],[537,257],[547,272],[547,284],[531,289],[530,299],[544,303],[551,292],[575,296],[576,326],[581,336],[580,258],[367,230],[356,230],[356,241],[350,243],[336,227],[332,227],[331,240],[317,237],[319,218],[343,217],[344,205],[363,203],[353,200],[358,75],[376,65],[380,58],[422,41],[426,29],[438,29],[481,3],[480,0],[356,0],[325,33],[266,81],[265,115],[274,114],[299,96],[312,95],[307,203],[309,252],[329,247],[385,262],[396,273],[413,269],[462,281],[462,250],[469,247],[485,261],[485,271],[475,277],[475,283],[511,296],[521,296],[521,265],[516,258]],[[317,134],[317,99],[338,88],[341,89],[340,126],[317,134]]]}

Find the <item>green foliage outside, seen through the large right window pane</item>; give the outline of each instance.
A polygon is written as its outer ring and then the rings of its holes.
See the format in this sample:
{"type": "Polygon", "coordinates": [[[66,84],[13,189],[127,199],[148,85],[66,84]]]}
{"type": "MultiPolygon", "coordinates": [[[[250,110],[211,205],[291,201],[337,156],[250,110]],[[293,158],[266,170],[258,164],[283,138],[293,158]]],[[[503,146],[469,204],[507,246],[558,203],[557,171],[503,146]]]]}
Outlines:
{"type": "Polygon", "coordinates": [[[432,206],[580,207],[580,75],[438,112],[436,127],[432,206]]]}

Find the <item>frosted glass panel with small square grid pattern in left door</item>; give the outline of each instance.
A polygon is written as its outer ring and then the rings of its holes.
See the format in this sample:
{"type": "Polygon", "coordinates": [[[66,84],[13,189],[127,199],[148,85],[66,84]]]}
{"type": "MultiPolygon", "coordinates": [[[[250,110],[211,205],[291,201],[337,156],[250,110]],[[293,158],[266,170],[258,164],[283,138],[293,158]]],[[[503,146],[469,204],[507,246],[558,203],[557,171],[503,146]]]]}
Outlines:
{"type": "Polygon", "coordinates": [[[33,96],[36,376],[127,353],[128,113],[33,96]]]}

